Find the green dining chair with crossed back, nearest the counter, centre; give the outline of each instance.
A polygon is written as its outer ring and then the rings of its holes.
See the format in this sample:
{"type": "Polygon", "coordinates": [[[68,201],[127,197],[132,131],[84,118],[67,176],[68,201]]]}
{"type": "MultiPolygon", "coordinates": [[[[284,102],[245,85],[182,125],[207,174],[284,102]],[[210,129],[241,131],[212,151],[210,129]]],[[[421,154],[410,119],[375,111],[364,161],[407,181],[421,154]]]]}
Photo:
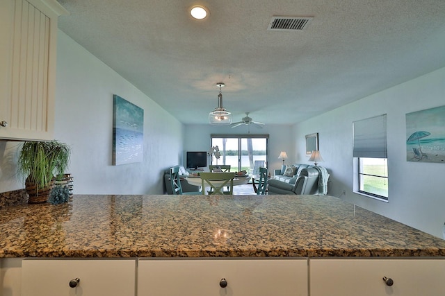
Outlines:
{"type": "Polygon", "coordinates": [[[200,173],[202,194],[210,187],[209,195],[233,194],[235,173],[200,173]],[[227,186],[227,191],[224,187],[227,186]]]}

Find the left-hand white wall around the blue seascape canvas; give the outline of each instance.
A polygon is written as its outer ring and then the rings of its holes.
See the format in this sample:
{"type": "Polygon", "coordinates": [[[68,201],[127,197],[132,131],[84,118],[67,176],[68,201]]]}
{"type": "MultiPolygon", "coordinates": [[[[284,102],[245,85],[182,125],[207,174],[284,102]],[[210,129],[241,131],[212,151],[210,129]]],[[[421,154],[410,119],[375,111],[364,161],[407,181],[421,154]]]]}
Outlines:
{"type": "MultiPolygon", "coordinates": [[[[57,46],[54,138],[72,148],[74,193],[162,194],[163,171],[181,160],[184,125],[62,31],[57,46]],[[143,162],[112,165],[113,94],[144,110],[143,162]]],[[[17,145],[0,142],[0,192],[24,188],[17,145]]]]}

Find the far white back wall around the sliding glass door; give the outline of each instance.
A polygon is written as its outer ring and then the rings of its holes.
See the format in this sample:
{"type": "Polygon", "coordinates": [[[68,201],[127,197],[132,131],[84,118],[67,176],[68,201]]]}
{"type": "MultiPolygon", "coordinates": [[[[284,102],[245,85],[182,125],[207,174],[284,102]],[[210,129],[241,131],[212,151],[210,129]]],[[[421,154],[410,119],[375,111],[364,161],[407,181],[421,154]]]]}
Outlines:
{"type": "MultiPolygon", "coordinates": [[[[278,159],[280,151],[286,151],[289,159],[286,164],[291,164],[293,155],[293,143],[291,141],[291,125],[264,125],[264,128],[250,128],[250,134],[269,134],[269,169],[281,168],[282,159],[278,159]]],[[[238,128],[215,125],[186,125],[184,134],[184,166],[186,164],[186,151],[209,151],[211,147],[210,134],[248,134],[248,127],[241,125],[238,128]]]]}

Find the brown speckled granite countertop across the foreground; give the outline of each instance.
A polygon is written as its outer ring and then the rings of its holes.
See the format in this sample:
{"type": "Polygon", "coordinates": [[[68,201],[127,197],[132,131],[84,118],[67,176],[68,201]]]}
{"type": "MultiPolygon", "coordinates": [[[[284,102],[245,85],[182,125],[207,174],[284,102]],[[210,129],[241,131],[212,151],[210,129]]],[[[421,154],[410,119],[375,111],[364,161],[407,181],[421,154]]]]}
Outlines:
{"type": "Polygon", "coordinates": [[[0,210],[0,258],[35,256],[445,256],[445,241],[327,195],[74,195],[0,210]]]}

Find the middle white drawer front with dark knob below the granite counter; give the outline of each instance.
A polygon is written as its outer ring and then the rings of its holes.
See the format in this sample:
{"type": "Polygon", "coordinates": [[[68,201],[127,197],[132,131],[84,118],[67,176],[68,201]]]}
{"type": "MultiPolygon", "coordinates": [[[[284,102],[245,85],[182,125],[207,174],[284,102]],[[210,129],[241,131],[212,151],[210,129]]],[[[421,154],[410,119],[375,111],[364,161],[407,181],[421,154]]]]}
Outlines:
{"type": "Polygon", "coordinates": [[[307,259],[138,261],[138,296],[307,296],[307,280],[307,259]]]}

